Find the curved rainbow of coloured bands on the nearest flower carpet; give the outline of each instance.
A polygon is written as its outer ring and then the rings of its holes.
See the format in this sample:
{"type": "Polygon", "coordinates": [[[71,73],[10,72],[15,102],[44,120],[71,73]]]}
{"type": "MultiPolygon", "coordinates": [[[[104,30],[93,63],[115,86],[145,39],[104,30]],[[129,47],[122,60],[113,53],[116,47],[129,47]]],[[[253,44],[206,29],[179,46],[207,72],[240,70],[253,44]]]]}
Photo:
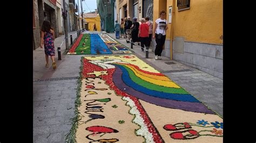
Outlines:
{"type": "Polygon", "coordinates": [[[151,73],[130,63],[112,63],[114,84],[143,101],[172,109],[215,114],[161,73],[151,73]]]}

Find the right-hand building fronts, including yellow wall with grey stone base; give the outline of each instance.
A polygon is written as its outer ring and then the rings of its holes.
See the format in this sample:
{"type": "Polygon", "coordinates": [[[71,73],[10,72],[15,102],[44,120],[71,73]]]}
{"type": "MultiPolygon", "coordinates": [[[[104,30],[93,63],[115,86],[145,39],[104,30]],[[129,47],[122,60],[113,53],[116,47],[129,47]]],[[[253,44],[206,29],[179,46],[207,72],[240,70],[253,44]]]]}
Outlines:
{"type": "Polygon", "coordinates": [[[165,10],[169,29],[162,55],[223,78],[223,1],[117,0],[116,5],[119,22],[149,17],[153,26],[165,10]]]}

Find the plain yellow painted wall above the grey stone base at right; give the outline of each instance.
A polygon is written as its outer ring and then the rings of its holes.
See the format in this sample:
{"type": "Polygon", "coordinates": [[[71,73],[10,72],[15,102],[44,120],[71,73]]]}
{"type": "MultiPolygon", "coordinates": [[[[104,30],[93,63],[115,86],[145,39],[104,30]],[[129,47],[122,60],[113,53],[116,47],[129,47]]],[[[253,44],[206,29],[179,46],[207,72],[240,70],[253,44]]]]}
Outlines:
{"type": "Polygon", "coordinates": [[[178,11],[176,7],[173,37],[185,37],[185,41],[223,44],[220,38],[223,35],[223,0],[190,2],[188,10],[178,11]]]}

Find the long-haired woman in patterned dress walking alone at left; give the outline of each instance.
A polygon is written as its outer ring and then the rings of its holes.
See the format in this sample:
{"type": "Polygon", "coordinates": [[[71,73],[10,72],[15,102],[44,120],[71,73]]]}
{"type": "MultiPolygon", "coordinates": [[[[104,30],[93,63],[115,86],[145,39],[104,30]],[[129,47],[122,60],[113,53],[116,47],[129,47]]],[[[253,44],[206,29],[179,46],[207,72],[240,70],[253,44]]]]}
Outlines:
{"type": "Polygon", "coordinates": [[[51,56],[52,60],[52,68],[56,69],[57,65],[54,59],[55,56],[55,47],[54,47],[55,34],[51,24],[48,20],[44,20],[43,25],[41,27],[41,48],[44,45],[44,53],[46,64],[45,67],[49,67],[49,56],[51,56]]]}

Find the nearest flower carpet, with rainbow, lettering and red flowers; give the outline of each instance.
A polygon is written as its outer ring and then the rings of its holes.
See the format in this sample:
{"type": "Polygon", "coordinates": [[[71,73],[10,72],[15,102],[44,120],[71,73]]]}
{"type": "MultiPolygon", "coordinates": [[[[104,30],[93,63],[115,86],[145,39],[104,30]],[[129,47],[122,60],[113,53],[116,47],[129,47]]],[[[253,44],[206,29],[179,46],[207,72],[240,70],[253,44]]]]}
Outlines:
{"type": "Polygon", "coordinates": [[[70,142],[223,142],[223,119],[135,55],[86,56],[70,142]]]}

